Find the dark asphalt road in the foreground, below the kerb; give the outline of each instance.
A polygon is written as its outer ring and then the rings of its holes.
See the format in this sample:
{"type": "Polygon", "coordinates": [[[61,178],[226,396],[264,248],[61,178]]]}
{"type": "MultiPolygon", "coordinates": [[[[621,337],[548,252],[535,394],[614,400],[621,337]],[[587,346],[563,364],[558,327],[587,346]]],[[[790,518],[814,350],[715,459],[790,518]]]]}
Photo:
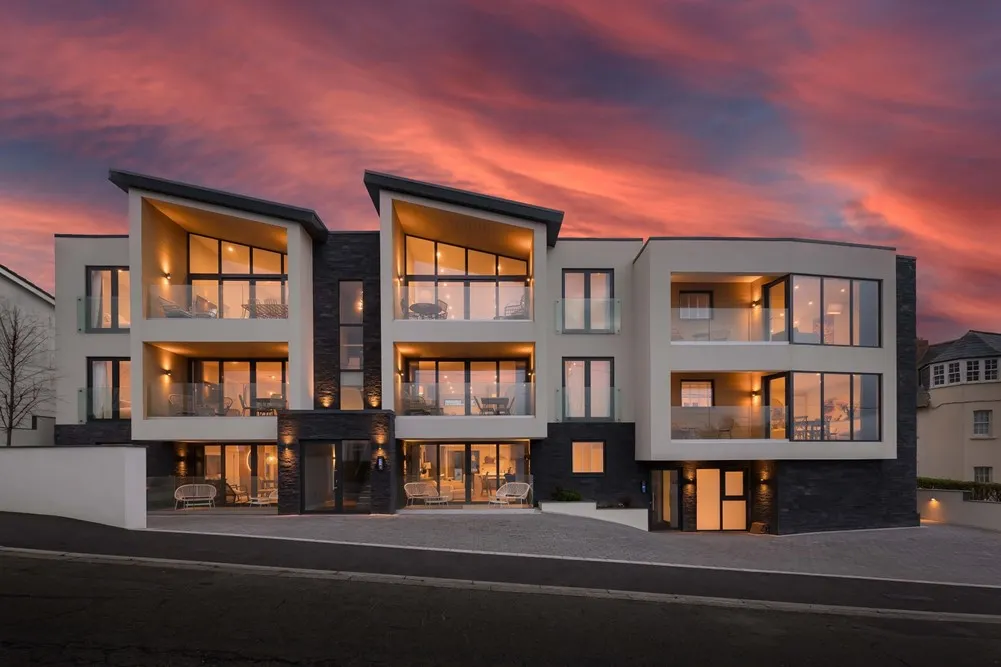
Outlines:
{"type": "Polygon", "coordinates": [[[998,625],[10,555],[0,601],[4,667],[1001,664],[998,625]]]}

